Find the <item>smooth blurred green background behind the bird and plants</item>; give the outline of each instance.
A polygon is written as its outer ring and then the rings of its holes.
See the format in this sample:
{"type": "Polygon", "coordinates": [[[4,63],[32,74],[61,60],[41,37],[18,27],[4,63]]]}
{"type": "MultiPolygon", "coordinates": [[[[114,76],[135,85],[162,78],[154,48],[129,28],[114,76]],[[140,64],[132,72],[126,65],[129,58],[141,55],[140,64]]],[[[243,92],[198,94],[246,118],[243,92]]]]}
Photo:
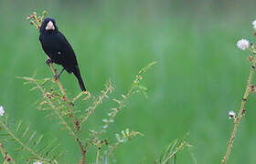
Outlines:
{"type": "MultiPolygon", "coordinates": [[[[124,94],[142,67],[157,62],[142,82],[148,98],[131,98],[110,128],[108,138],[124,128],[144,133],[117,149],[116,163],[153,163],[169,142],[187,132],[198,164],[220,163],[233,128],[228,111],[239,109],[250,69],[249,52],[240,51],[236,42],[241,37],[255,41],[255,6],[252,0],[2,0],[0,105],[12,122],[24,119],[38,133],[58,138],[67,163],[78,161],[72,138],[37,110],[39,92],[28,91],[31,86],[16,78],[35,72],[37,78],[52,76],[38,31],[26,20],[33,11],[47,10],[73,46],[91,94],[99,95],[108,79],[116,88],[113,95],[124,94]]],[[[72,75],[64,73],[61,82],[71,96],[80,92],[72,75]]],[[[256,163],[255,101],[255,95],[249,97],[229,163],[256,163]]],[[[110,107],[97,108],[88,128],[100,124],[110,107]]],[[[179,153],[176,163],[193,163],[190,153],[179,153]]]]}

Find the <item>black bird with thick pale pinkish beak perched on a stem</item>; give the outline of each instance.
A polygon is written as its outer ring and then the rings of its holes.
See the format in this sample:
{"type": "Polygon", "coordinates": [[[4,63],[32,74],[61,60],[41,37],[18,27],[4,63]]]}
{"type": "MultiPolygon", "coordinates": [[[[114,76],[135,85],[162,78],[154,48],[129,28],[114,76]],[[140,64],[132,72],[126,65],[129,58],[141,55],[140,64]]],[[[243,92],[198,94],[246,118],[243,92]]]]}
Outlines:
{"type": "Polygon", "coordinates": [[[39,40],[45,53],[49,57],[46,63],[49,64],[53,62],[63,67],[55,77],[59,78],[64,70],[69,72],[69,74],[73,73],[78,78],[81,90],[86,91],[80,76],[80,68],[75,52],[66,37],[59,32],[53,18],[47,17],[44,19],[40,27],[39,40]]]}

